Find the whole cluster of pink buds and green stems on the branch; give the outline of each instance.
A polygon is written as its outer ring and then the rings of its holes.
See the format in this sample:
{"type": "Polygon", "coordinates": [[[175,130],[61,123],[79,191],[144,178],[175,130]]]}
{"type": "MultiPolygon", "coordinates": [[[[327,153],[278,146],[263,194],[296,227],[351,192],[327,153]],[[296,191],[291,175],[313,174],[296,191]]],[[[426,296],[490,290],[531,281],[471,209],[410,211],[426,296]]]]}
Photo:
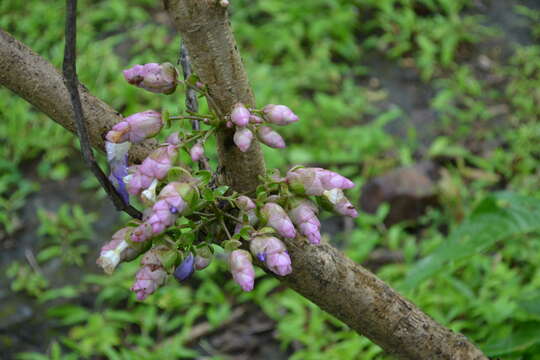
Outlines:
{"type": "MultiPolygon", "coordinates": [[[[178,71],[167,63],[136,65],[124,76],[130,84],[154,93],[171,94],[178,83],[178,71]]],[[[209,97],[198,80],[185,83],[209,97]]],[[[297,166],[284,177],[268,175],[250,198],[216,186],[209,169],[194,170],[193,165],[204,163],[205,141],[218,127],[234,127],[233,140],[244,152],[255,136],[268,146],[284,147],[282,137],[268,125],[296,121],[298,117],[284,105],[257,110],[238,103],[222,117],[169,116],[148,110],[113,126],[105,136],[110,179],[126,202],[139,201],[144,211],[141,220],[130,221],[102,247],[98,265],[110,274],[121,262],[142,255],[132,286],[139,300],[162,286],[168,275],[183,282],[203,270],[217,248],[228,253],[233,279],[245,291],[254,286],[255,259],[278,276],[290,274],[293,264],[285,243],[321,242],[319,208],[357,216],[343,194],[353,183],[329,170],[297,166]],[[199,120],[209,128],[181,127],[140,164],[128,166],[131,145],[158,135],[172,120],[199,120]],[[182,152],[191,164],[181,161],[182,152]]]]}

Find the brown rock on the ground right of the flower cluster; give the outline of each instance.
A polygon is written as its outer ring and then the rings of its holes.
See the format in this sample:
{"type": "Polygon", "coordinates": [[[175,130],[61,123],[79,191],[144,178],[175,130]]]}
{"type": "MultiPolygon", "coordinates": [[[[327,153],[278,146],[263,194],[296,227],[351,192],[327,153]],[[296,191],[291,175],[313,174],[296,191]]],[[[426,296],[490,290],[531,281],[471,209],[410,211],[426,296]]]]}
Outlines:
{"type": "Polygon", "coordinates": [[[437,165],[431,161],[400,167],[369,180],[362,188],[360,208],[374,214],[383,203],[390,205],[385,224],[416,220],[428,206],[437,204],[437,165]]]}

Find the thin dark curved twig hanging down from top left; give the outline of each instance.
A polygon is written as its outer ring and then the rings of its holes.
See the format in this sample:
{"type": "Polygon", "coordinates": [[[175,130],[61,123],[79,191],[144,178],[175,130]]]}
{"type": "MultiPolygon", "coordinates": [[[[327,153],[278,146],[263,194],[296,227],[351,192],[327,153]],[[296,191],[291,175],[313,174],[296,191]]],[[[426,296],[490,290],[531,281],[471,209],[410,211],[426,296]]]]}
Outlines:
{"type": "Polygon", "coordinates": [[[79,97],[79,81],[77,80],[77,68],[75,65],[76,59],[76,35],[77,35],[77,0],[66,0],[66,44],[64,48],[64,63],[62,66],[64,72],[64,82],[69,91],[71,98],[71,105],[73,106],[73,115],[75,117],[75,127],[77,129],[77,136],[81,144],[81,152],[86,162],[86,165],[90,168],[94,176],[98,179],[99,183],[105,189],[105,192],[112,200],[114,206],[118,211],[125,211],[136,219],[141,219],[142,214],[139,210],[135,209],[131,205],[124,202],[122,196],[118,193],[116,188],[107,178],[107,175],[101,170],[97,164],[92,148],[90,146],[90,140],[88,137],[88,130],[84,122],[84,115],[81,105],[81,99],[79,97]]]}

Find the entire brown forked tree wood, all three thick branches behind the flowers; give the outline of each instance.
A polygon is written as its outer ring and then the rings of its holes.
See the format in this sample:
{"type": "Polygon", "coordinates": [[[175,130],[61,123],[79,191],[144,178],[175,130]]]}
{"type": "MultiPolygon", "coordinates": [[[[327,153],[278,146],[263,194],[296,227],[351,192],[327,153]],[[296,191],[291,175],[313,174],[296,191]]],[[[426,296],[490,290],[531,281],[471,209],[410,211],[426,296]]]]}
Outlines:
{"type": "MultiPolygon", "coordinates": [[[[254,99],[223,9],[208,0],[168,0],[199,77],[218,110],[228,113],[236,101],[254,99]],[[181,13],[181,14],[180,14],[181,13]],[[199,43],[200,42],[200,43],[199,43]],[[200,48],[199,48],[200,47],[200,48]],[[230,61],[230,64],[226,62],[230,61]]],[[[0,32],[0,84],[34,104],[64,127],[74,130],[62,76],[46,60],[0,32]]],[[[92,144],[102,148],[105,131],[119,115],[81,86],[92,144]]],[[[231,134],[221,130],[219,151],[225,181],[237,190],[253,190],[264,164],[258,145],[235,152],[231,134]]],[[[136,158],[147,151],[137,149],[136,158]]],[[[291,288],[342,320],[388,353],[404,359],[487,359],[463,335],[437,324],[375,275],[327,244],[313,246],[287,240],[291,275],[281,278],[291,288]]]]}

